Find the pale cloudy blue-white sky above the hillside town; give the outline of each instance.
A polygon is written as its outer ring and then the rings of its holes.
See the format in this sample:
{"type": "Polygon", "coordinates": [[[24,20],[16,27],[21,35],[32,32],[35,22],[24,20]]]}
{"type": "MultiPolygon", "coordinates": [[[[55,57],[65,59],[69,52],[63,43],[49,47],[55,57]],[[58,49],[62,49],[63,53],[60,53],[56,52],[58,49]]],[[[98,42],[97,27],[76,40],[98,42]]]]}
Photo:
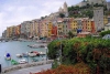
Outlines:
{"type": "Polygon", "coordinates": [[[65,1],[73,6],[82,0],[0,0],[0,36],[7,27],[58,11],[65,1]]]}

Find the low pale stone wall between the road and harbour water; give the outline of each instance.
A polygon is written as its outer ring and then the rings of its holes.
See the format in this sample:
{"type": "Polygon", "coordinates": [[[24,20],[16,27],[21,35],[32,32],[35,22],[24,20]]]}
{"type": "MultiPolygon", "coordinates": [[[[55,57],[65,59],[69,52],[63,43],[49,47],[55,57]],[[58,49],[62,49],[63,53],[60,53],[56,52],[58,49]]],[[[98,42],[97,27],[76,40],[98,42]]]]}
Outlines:
{"type": "Polygon", "coordinates": [[[26,68],[26,67],[32,67],[32,66],[38,66],[38,65],[44,65],[44,64],[51,64],[51,63],[53,63],[53,62],[54,62],[54,60],[47,60],[47,61],[40,61],[40,62],[33,62],[33,63],[13,65],[13,66],[11,66],[11,67],[2,68],[2,73],[15,71],[15,70],[21,70],[21,68],[26,68]]]}

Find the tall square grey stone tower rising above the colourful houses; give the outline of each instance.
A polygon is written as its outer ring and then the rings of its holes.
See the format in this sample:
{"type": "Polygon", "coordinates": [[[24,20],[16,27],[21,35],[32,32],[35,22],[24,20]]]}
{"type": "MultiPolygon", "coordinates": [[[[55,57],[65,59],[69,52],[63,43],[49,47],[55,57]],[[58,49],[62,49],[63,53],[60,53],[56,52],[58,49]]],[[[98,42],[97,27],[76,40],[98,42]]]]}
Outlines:
{"type": "Polygon", "coordinates": [[[94,8],[94,20],[95,20],[95,28],[96,31],[101,31],[103,29],[103,8],[98,7],[94,8]]]}

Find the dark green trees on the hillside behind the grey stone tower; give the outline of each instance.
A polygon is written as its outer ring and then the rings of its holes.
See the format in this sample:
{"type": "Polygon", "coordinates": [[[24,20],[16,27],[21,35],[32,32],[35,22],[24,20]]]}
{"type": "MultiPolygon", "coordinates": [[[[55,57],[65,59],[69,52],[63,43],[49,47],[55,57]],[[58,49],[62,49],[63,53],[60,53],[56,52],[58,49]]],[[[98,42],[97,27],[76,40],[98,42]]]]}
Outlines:
{"type": "Polygon", "coordinates": [[[103,6],[103,4],[87,4],[87,6],[84,6],[84,7],[68,7],[68,12],[69,12],[69,17],[74,17],[74,18],[85,18],[85,17],[89,17],[89,18],[92,18],[94,17],[94,8],[95,7],[103,7],[103,11],[105,11],[105,15],[108,15],[109,14],[109,11],[107,10],[107,7],[103,6]]]}

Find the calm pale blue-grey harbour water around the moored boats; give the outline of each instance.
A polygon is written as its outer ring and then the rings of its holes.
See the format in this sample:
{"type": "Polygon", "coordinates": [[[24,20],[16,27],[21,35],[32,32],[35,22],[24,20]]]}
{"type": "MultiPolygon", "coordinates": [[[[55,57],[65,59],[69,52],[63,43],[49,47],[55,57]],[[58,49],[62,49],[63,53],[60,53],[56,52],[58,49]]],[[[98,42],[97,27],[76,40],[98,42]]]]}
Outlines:
{"type": "MultiPolygon", "coordinates": [[[[4,59],[6,53],[10,53],[11,57],[15,61],[19,61],[20,59],[16,57],[16,54],[26,53],[30,51],[38,51],[38,52],[46,52],[45,49],[31,49],[28,45],[30,44],[36,44],[35,42],[20,42],[20,41],[10,41],[10,42],[0,42],[0,64],[2,67],[9,67],[11,66],[11,62],[7,61],[4,59]]],[[[36,56],[38,61],[41,61],[44,56],[36,56]]],[[[29,63],[32,62],[32,57],[22,57],[25,59],[29,63]]]]}

